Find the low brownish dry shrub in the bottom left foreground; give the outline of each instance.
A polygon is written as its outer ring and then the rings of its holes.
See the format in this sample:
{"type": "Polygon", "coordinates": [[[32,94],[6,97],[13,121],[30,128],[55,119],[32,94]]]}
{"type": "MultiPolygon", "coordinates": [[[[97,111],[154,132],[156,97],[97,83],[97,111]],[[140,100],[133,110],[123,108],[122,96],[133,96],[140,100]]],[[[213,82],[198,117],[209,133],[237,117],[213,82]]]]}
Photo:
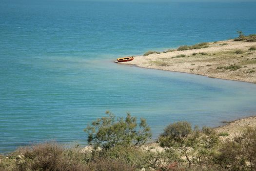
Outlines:
{"type": "Polygon", "coordinates": [[[70,155],[68,150],[56,143],[25,147],[16,151],[16,156],[18,156],[16,167],[19,171],[83,171],[85,169],[79,151],[70,155]]]}

